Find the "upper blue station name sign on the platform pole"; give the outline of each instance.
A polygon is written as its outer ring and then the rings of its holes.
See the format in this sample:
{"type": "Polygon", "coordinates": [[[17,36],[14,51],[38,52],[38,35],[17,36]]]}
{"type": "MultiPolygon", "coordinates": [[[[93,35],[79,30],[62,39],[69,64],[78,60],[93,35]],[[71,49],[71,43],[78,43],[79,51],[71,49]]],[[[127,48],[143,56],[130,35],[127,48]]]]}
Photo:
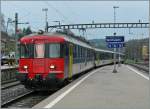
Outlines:
{"type": "Polygon", "coordinates": [[[124,42],[124,36],[106,36],[106,42],[124,42]]]}

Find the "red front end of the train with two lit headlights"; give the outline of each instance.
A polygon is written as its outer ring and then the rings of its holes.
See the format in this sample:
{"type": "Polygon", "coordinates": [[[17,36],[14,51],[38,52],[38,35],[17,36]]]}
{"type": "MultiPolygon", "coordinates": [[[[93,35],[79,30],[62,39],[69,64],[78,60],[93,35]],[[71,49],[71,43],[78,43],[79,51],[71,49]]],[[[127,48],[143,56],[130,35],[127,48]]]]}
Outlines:
{"type": "Polygon", "coordinates": [[[17,78],[26,88],[55,89],[64,80],[64,39],[56,36],[27,36],[20,40],[17,78]]]}

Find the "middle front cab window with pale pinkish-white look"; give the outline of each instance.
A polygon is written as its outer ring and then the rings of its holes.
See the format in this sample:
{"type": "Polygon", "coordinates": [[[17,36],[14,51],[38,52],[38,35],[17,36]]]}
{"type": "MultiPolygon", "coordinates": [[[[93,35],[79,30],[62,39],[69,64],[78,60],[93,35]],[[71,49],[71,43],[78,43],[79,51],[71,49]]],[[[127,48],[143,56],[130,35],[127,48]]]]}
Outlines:
{"type": "Polygon", "coordinates": [[[36,44],[35,45],[35,58],[44,58],[44,54],[45,54],[45,45],[36,44]]]}

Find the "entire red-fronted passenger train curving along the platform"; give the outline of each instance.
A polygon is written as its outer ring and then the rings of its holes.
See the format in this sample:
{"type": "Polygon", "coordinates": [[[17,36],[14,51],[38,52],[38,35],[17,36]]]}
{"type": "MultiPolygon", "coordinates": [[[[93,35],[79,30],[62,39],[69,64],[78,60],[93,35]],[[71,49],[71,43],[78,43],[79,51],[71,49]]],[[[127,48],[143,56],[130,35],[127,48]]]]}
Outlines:
{"type": "Polygon", "coordinates": [[[112,63],[113,52],[62,33],[31,34],[20,39],[17,78],[27,88],[58,88],[73,75],[112,63]],[[103,59],[105,57],[105,59],[103,59]]]}

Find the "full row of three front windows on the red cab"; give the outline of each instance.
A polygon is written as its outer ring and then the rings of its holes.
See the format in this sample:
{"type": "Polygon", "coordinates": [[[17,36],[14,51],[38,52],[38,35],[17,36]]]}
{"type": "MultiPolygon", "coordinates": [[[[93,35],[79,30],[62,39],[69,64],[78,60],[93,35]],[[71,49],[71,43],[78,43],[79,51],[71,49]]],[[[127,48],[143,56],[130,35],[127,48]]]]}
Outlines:
{"type": "Polygon", "coordinates": [[[47,58],[63,57],[63,45],[59,43],[20,45],[20,58],[45,58],[45,57],[47,58]]]}

